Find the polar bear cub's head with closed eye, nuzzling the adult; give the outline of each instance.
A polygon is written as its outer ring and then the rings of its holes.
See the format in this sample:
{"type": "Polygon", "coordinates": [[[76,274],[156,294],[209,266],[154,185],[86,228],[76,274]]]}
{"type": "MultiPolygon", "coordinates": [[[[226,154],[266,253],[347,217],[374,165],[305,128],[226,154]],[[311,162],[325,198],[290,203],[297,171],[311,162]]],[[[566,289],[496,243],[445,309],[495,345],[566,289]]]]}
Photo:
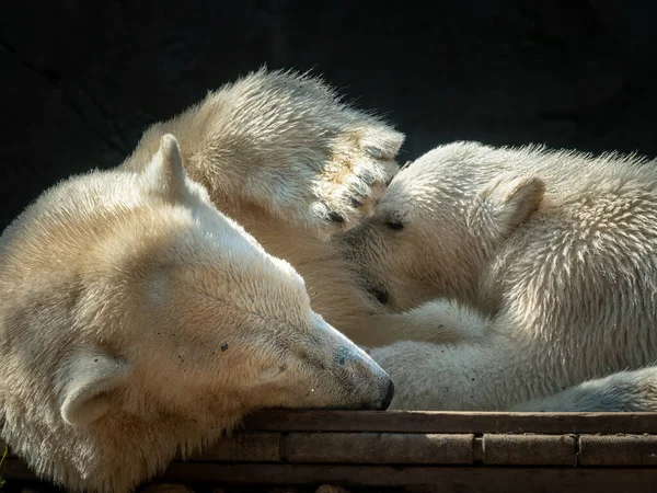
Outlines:
{"type": "Polygon", "coordinates": [[[540,179],[509,172],[512,157],[454,142],[404,167],[344,238],[366,287],[393,310],[433,298],[473,305],[482,271],[543,199],[540,179]]]}

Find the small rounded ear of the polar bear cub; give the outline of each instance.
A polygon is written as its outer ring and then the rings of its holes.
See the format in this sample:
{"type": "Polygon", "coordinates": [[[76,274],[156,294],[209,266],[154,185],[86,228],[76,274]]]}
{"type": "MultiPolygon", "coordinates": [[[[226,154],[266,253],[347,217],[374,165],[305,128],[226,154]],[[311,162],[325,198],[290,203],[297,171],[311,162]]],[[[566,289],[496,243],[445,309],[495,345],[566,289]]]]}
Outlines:
{"type": "Polygon", "coordinates": [[[485,223],[495,237],[505,238],[539,208],[544,193],[545,183],[535,176],[494,177],[479,193],[485,223]]]}

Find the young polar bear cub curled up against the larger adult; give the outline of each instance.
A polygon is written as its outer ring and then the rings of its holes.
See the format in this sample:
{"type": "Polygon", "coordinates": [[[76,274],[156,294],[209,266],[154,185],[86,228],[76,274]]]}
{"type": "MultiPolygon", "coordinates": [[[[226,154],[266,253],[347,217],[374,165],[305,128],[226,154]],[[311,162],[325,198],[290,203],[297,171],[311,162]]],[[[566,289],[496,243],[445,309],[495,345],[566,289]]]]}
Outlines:
{"type": "Polygon", "coordinates": [[[657,360],[657,162],[441,146],[346,250],[393,309],[443,297],[485,324],[479,341],[373,349],[394,408],[657,410],[655,369],[611,375],[657,360]]]}

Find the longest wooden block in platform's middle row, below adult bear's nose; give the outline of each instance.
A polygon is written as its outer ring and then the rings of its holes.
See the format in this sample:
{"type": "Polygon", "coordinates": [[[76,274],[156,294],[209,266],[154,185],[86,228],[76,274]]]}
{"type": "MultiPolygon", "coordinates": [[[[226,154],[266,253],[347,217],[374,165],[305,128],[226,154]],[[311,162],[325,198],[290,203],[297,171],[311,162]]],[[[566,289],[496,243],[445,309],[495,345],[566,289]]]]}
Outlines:
{"type": "Polygon", "coordinates": [[[290,433],[290,462],[473,463],[474,435],[290,433]]]}

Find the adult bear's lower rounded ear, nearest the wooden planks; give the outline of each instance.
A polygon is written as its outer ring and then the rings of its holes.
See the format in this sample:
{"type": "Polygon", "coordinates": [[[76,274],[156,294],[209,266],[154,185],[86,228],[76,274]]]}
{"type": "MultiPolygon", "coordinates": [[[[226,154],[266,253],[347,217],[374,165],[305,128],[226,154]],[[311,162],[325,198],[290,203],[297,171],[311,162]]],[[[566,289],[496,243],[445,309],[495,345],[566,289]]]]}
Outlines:
{"type": "Polygon", "coordinates": [[[107,414],[125,387],[129,365],[102,351],[77,351],[56,376],[64,421],[83,426],[107,414]]]}

